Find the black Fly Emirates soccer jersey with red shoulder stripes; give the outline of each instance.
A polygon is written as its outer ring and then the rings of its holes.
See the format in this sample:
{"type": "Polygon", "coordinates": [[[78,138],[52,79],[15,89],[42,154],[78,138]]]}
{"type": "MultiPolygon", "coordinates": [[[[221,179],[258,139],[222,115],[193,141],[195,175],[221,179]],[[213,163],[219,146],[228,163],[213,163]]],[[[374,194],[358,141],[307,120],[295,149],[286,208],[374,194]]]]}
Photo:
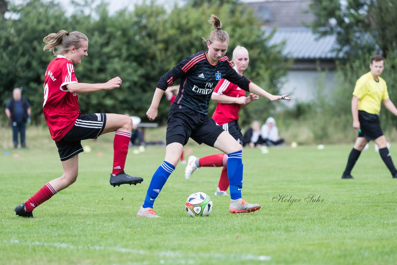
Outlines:
{"type": "Polygon", "coordinates": [[[165,91],[179,78],[181,85],[174,103],[206,115],[212,91],[220,79],[227,79],[245,91],[249,91],[251,83],[247,77],[236,72],[227,56],[222,57],[216,65],[210,64],[206,51],[189,56],[177,64],[160,78],[157,87],[165,91]]]}

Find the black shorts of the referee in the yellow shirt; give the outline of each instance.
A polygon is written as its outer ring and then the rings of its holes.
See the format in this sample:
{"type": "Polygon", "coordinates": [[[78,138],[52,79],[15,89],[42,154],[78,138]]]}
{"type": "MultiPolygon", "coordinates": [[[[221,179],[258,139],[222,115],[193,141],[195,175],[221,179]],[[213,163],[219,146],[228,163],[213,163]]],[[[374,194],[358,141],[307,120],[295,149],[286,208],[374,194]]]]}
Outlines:
{"type": "Polygon", "coordinates": [[[361,130],[358,137],[365,137],[367,141],[371,141],[383,135],[378,115],[358,110],[358,121],[361,130]]]}

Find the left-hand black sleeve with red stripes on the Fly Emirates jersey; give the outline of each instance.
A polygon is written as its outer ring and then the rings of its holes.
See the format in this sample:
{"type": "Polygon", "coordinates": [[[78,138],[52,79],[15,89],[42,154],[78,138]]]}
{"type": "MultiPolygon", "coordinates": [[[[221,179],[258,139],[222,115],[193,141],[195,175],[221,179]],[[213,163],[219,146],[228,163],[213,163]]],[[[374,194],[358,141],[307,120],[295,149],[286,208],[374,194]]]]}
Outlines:
{"type": "Polygon", "coordinates": [[[165,91],[167,87],[169,87],[173,83],[173,81],[187,75],[192,69],[191,66],[194,65],[194,63],[197,61],[197,57],[203,56],[202,53],[203,52],[198,52],[179,62],[179,64],[174,66],[170,71],[160,77],[160,81],[158,81],[157,87],[165,91]]]}

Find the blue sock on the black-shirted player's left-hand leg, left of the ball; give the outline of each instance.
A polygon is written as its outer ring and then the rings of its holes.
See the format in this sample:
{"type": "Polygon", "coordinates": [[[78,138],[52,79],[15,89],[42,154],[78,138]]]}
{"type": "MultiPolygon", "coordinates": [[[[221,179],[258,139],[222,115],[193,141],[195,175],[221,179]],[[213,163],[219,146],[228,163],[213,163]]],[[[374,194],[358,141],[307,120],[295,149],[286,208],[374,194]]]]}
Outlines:
{"type": "Polygon", "coordinates": [[[146,193],[145,202],[143,203],[143,208],[153,208],[154,200],[157,198],[158,193],[160,193],[164,184],[171,173],[175,170],[175,166],[164,161],[154,172],[152,180],[150,181],[148,191],[146,193]]]}

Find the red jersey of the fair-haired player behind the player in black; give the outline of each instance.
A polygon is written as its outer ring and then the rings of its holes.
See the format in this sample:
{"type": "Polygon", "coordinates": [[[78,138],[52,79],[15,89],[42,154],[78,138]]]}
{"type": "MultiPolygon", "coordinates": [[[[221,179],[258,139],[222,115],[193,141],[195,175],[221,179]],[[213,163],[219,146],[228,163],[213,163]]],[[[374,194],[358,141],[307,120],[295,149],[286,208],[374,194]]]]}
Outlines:
{"type": "MultiPolygon", "coordinates": [[[[245,90],[237,85],[230,83],[226,79],[221,79],[214,89],[216,95],[227,95],[229,97],[245,97],[245,90]]],[[[215,112],[212,118],[219,125],[239,120],[240,104],[216,104],[215,112]]]]}

